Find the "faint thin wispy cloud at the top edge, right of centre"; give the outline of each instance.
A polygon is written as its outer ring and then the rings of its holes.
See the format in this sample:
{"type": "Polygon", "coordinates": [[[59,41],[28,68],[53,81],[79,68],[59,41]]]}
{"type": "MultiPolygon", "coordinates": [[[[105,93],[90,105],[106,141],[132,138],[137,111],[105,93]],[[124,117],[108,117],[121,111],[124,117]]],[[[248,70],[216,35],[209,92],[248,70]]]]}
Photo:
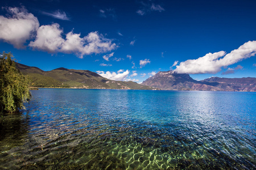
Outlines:
{"type": "Polygon", "coordinates": [[[151,12],[151,11],[158,11],[158,12],[162,12],[164,11],[164,8],[160,5],[155,5],[154,3],[144,3],[144,2],[141,2],[141,9],[137,10],[137,14],[139,15],[145,15],[147,14],[148,12],[151,12]]]}

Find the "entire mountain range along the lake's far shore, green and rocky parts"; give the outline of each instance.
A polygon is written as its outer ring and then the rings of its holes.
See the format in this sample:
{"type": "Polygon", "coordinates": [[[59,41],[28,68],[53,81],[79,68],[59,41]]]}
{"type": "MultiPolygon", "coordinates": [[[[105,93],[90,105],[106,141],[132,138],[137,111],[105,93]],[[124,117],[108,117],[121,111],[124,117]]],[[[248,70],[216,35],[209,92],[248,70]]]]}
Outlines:
{"type": "Polygon", "coordinates": [[[256,78],[211,77],[201,81],[188,74],[175,71],[159,71],[141,84],[129,81],[115,81],[102,77],[89,70],[65,69],[43,71],[38,67],[16,63],[24,75],[30,76],[33,87],[59,88],[102,88],[136,90],[196,90],[196,91],[256,91],[256,78]]]}

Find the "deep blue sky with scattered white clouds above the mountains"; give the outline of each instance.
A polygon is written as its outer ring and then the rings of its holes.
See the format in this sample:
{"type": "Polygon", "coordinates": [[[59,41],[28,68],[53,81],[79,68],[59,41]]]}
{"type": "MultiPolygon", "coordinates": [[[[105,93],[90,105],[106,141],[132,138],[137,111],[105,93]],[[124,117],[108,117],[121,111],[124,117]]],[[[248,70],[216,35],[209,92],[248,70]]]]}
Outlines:
{"type": "Polygon", "coordinates": [[[0,51],[44,71],[90,70],[142,82],[176,70],[256,77],[256,1],[1,3],[0,51]]]}

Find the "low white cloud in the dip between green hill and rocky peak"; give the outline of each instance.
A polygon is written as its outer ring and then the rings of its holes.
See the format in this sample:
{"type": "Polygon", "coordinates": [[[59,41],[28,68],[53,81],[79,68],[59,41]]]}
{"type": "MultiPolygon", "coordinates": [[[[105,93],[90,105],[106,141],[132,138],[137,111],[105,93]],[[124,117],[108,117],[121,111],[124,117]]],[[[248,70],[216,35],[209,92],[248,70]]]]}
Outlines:
{"type": "Polygon", "coordinates": [[[116,80],[116,81],[123,81],[127,78],[127,76],[129,75],[130,71],[129,70],[118,70],[117,73],[115,72],[110,72],[110,71],[106,71],[106,73],[104,71],[96,71],[99,75],[110,79],[110,80],[116,80]]]}

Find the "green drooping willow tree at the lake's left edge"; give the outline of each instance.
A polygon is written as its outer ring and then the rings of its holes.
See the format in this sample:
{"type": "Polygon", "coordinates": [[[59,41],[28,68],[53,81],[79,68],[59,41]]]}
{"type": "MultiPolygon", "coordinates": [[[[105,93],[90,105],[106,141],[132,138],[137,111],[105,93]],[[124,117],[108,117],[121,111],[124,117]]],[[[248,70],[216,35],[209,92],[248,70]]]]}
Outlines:
{"type": "Polygon", "coordinates": [[[11,57],[11,53],[0,55],[0,111],[9,114],[25,109],[23,103],[31,97],[28,77],[20,73],[11,57]]]}

